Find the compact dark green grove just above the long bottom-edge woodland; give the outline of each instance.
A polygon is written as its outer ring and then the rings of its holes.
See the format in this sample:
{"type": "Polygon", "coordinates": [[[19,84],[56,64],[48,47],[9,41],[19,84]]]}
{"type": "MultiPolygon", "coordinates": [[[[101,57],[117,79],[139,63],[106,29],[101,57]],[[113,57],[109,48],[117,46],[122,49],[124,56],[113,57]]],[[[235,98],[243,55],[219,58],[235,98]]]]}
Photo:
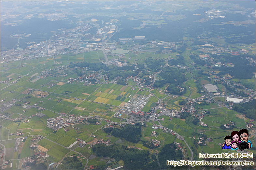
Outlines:
{"type": "Polygon", "coordinates": [[[126,125],[123,128],[113,128],[112,135],[124,138],[126,141],[137,143],[141,137],[141,123],[126,125]]]}

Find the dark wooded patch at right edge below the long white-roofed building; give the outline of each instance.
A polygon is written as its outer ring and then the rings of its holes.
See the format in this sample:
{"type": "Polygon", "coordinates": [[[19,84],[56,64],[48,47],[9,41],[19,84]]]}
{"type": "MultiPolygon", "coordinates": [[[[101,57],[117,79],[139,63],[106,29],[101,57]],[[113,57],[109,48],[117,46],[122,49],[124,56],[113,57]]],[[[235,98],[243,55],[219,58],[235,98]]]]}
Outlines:
{"type": "Polygon", "coordinates": [[[255,99],[247,103],[238,103],[233,105],[237,112],[244,113],[247,118],[255,120],[255,99]]]}

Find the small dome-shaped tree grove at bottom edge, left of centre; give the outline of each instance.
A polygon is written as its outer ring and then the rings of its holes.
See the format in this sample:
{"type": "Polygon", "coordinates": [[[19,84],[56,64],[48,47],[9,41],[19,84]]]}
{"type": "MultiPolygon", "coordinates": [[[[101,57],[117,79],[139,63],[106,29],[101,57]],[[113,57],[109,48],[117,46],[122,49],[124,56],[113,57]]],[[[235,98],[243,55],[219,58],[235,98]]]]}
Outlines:
{"type": "Polygon", "coordinates": [[[59,164],[56,169],[84,169],[84,167],[82,166],[82,162],[76,156],[73,156],[65,157],[62,164],[59,164]]]}

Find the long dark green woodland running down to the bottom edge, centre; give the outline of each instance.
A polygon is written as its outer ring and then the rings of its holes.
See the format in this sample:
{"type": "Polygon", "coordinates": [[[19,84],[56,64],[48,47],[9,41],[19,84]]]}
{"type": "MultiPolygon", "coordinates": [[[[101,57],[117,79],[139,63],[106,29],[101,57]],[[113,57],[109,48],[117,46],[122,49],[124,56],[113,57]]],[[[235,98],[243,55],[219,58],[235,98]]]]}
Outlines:
{"type": "MultiPolygon", "coordinates": [[[[96,144],[92,147],[92,151],[97,156],[115,158],[117,161],[123,160],[125,169],[157,169],[156,165],[151,164],[149,151],[127,148],[125,146],[113,144],[106,146],[103,143],[96,144]],[[156,166],[156,167],[155,167],[156,166]]],[[[155,159],[156,161],[156,159],[155,159]]],[[[165,160],[166,161],[166,160],[165,160]]]]}

